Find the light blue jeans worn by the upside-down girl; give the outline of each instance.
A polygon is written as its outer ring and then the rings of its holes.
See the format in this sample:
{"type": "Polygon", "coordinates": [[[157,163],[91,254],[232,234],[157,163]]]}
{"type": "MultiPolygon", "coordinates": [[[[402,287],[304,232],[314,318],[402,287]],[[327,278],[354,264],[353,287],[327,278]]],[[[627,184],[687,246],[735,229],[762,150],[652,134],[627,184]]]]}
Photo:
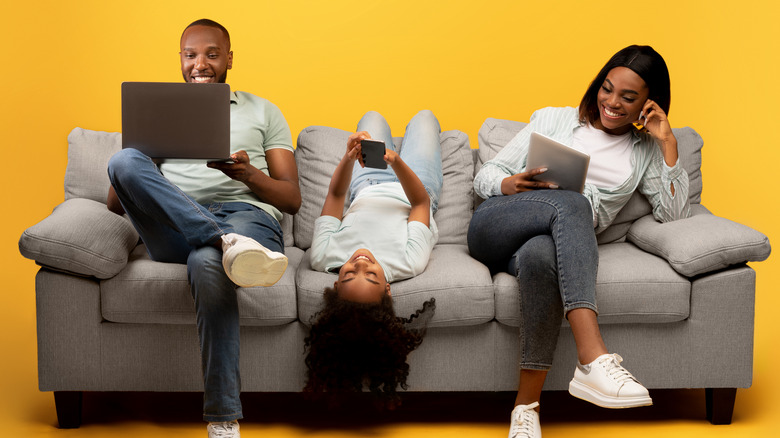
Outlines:
{"type": "MultiPolygon", "coordinates": [[[[384,141],[387,149],[395,150],[390,126],[376,111],[367,112],[358,122],[357,130],[367,131],[372,139],[384,141]]],[[[438,208],[444,180],[441,171],[440,132],[441,128],[436,116],[428,110],[420,111],[406,125],[406,133],[399,152],[401,159],[417,175],[425,191],[428,192],[433,212],[438,208]]],[[[355,167],[352,168],[349,202],[352,203],[362,189],[388,182],[398,182],[398,177],[390,166],[387,166],[387,169],[360,167],[360,163],[356,161],[355,167]]]]}

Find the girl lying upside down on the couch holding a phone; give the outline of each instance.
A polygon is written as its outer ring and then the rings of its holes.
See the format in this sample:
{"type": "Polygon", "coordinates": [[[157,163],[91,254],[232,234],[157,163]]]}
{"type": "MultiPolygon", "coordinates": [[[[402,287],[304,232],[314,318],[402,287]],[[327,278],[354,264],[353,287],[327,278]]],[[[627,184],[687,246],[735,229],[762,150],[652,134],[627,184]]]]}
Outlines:
{"type": "Polygon", "coordinates": [[[396,387],[406,388],[406,357],[422,342],[435,306],[431,299],[410,318],[396,317],[390,283],[425,270],[438,239],[439,133],[433,113],[419,112],[399,155],[385,119],[369,112],[350,135],[314,226],[312,267],[339,276],[306,339],[307,391],[359,391],[365,382],[394,407],[396,387]],[[372,138],[387,147],[387,169],[364,165],[361,141],[372,138]]]}

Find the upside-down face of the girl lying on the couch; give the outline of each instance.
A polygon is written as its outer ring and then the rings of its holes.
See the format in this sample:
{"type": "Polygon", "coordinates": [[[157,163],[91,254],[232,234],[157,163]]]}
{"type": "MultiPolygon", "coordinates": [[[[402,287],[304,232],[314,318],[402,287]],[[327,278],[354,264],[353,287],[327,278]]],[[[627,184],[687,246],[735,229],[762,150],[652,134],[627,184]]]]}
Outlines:
{"type": "Polygon", "coordinates": [[[385,271],[371,251],[363,248],[339,269],[339,279],[333,285],[339,298],[359,303],[378,303],[390,294],[385,271]]]}

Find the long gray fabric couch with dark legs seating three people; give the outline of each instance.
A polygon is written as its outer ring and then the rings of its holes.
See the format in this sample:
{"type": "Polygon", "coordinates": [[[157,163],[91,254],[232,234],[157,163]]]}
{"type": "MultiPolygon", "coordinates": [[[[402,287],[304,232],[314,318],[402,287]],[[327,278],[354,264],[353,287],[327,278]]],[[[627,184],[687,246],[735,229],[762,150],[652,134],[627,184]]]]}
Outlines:
{"type": "MultiPolygon", "coordinates": [[[[488,119],[479,150],[459,131],[441,134],[444,188],[440,240],[416,278],[393,284],[399,315],[435,297],[436,314],[410,356],[411,391],[514,391],[518,300],[513,277],[469,256],[466,231],[478,200],[472,180],[524,124],[488,119]]],[[[322,289],[335,275],[312,271],[306,250],[348,132],[309,127],[295,158],[303,205],[285,216],[289,267],[269,288],[239,288],[244,391],[298,392],[303,340],[322,289]]],[[[708,416],[731,421],[736,388],[752,381],[755,272],[769,256],[763,234],[699,204],[701,138],[677,129],[691,177],[693,217],[657,223],[639,195],[599,236],[598,302],[611,350],[648,388],[707,388],[708,416]]],[[[106,163],[120,134],[76,128],[68,137],[65,201],[27,229],[19,248],[36,276],[38,378],[53,391],[62,427],[80,424],[83,391],[201,391],[195,312],[184,265],[149,259],[126,218],[104,204],[106,163]]],[[[545,389],[567,388],[576,361],[561,331],[545,389]]]]}

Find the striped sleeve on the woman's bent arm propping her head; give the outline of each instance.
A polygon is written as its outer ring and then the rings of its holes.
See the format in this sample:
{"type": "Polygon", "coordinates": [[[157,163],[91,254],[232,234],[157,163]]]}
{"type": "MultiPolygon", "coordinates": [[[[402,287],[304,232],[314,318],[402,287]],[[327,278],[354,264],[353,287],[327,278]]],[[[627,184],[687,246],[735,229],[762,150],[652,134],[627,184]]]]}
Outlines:
{"type": "Polygon", "coordinates": [[[653,145],[652,151],[650,164],[639,181],[639,191],[650,201],[653,217],[657,221],[671,222],[687,218],[691,214],[688,172],[683,169],[679,158],[674,166],[669,167],[658,147],[653,145]]]}

